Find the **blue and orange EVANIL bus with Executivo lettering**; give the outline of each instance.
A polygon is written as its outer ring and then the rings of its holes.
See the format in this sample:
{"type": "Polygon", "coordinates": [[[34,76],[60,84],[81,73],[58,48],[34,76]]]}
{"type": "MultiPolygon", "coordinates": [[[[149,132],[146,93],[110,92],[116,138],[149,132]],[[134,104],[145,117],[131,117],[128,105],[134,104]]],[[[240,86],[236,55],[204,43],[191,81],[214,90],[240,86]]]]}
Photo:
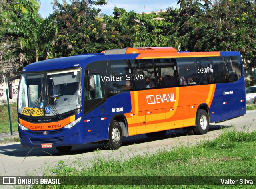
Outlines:
{"type": "Polygon", "coordinates": [[[27,65],[18,87],[23,147],[59,152],[86,143],[118,149],[123,137],[206,134],[210,122],[246,113],[239,52],[124,48],[27,65]]]}

